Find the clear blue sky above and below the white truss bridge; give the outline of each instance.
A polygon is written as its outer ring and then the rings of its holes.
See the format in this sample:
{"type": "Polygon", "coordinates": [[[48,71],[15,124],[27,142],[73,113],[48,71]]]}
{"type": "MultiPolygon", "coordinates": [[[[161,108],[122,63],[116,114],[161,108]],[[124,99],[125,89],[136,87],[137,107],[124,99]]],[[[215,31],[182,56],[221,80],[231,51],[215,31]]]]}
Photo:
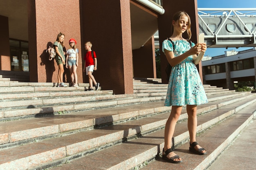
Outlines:
{"type": "MultiPolygon", "coordinates": [[[[198,8],[256,8],[256,0],[198,0],[198,8]]],[[[236,48],[208,48],[205,55],[211,57],[225,54],[225,51],[229,51],[236,48]]],[[[238,48],[236,51],[243,51],[248,48],[238,48]]]]}

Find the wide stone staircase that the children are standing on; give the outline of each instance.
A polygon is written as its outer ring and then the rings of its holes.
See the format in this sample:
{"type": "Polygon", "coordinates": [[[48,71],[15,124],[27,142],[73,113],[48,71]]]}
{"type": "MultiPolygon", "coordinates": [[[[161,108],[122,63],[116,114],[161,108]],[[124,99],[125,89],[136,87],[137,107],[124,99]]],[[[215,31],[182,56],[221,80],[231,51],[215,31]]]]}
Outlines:
{"type": "Polygon", "coordinates": [[[189,154],[184,107],[173,139],[184,162],[176,165],[159,158],[167,84],[134,79],[129,95],[86,86],[0,82],[0,170],[203,170],[256,115],[256,93],[204,85],[197,141],[208,155],[189,154]]]}

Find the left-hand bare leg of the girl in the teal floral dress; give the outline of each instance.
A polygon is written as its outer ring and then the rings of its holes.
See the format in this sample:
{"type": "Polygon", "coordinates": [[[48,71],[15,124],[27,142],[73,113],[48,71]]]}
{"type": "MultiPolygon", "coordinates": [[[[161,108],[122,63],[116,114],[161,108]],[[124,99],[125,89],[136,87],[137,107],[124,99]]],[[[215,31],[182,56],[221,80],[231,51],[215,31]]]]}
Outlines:
{"type": "MultiPolygon", "coordinates": [[[[164,150],[170,149],[172,147],[172,138],[176,123],[180,117],[180,113],[182,111],[182,106],[172,106],[171,114],[166,122],[164,129],[164,150]]],[[[166,155],[169,159],[176,154],[174,152],[170,152],[166,155]]],[[[174,161],[180,161],[181,158],[174,159],[174,161]]]]}

